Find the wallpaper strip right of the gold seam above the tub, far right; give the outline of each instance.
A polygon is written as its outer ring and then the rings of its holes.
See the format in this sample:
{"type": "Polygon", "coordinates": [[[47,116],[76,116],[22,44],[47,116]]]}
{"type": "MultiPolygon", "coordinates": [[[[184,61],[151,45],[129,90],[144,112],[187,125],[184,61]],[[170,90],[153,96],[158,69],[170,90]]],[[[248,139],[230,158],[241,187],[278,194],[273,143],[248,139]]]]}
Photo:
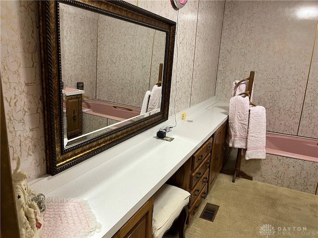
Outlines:
{"type": "MultiPolygon", "coordinates": [[[[318,10],[317,10],[318,11],[318,10]]],[[[298,135],[318,139],[318,39],[316,36],[313,61],[298,135]]]]}

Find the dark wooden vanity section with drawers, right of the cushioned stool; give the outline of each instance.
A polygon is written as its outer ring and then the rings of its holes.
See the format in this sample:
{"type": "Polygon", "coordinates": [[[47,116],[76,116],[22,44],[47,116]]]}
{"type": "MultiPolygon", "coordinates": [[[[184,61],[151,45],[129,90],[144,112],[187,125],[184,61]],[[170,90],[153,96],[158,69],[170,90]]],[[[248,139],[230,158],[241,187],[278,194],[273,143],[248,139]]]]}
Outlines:
{"type": "Polygon", "coordinates": [[[191,193],[187,224],[211,190],[227,154],[227,125],[220,128],[167,181],[191,193]]]}

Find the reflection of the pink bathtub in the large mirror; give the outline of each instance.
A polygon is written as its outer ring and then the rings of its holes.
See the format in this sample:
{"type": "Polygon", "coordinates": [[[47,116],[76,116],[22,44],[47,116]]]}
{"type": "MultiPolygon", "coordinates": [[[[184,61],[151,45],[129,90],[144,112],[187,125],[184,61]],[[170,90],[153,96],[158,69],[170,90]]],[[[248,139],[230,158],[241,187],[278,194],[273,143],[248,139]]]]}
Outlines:
{"type": "Polygon", "coordinates": [[[82,102],[83,113],[122,121],[140,115],[140,108],[121,104],[105,102],[102,100],[89,100],[82,102]]]}

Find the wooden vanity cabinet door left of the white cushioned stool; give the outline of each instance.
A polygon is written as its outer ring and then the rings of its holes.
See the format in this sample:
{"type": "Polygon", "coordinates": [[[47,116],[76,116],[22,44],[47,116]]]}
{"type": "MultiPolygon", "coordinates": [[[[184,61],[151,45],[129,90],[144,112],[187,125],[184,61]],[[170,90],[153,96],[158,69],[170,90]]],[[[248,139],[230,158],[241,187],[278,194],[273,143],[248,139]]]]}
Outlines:
{"type": "Polygon", "coordinates": [[[112,238],[151,238],[154,198],[149,199],[112,238]]]}

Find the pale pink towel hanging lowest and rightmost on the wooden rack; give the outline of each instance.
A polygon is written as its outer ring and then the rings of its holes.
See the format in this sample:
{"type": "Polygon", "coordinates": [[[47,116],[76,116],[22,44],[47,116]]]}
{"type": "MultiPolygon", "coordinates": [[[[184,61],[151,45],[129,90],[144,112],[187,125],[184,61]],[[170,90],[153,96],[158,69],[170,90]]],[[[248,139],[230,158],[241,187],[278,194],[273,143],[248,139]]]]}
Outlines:
{"type": "Polygon", "coordinates": [[[262,106],[249,109],[245,160],[266,158],[266,110],[262,106]]]}

